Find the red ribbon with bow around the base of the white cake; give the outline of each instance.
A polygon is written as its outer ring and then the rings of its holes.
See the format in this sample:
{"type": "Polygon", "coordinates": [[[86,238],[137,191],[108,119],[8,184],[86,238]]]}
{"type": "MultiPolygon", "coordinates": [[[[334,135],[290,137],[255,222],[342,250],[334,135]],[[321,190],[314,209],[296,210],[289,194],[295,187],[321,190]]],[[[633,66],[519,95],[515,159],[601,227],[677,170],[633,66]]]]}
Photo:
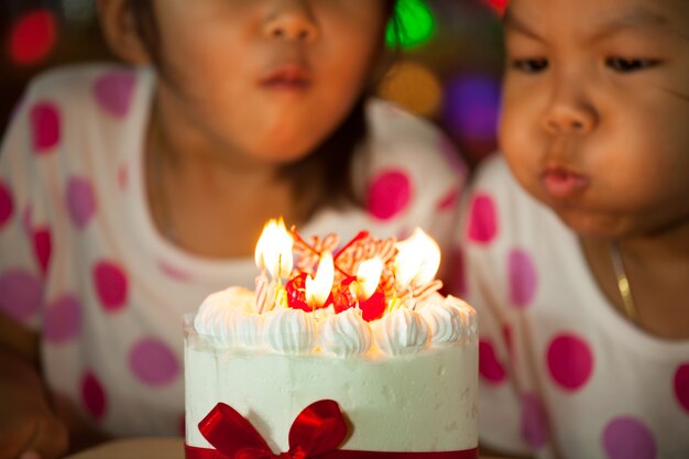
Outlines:
{"type": "Polygon", "coordinates": [[[289,428],[289,450],[275,455],[234,408],[218,403],[198,424],[215,449],[185,445],[187,459],[478,459],[477,448],[441,452],[347,451],[344,416],[337,402],[321,400],[302,411],[289,428]]]}

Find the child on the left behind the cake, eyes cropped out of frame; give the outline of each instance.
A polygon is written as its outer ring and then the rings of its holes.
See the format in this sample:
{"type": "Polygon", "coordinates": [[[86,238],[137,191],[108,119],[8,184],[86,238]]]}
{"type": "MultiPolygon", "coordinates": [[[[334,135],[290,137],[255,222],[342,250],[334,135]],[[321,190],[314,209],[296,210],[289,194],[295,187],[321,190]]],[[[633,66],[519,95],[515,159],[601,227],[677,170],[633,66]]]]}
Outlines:
{"type": "Polygon", "coordinates": [[[136,66],[39,78],[2,144],[1,458],[64,455],[83,417],[181,433],[181,318],[253,286],[271,217],[343,240],[422,227],[447,248],[447,142],[368,98],[394,3],[99,1],[136,66]]]}

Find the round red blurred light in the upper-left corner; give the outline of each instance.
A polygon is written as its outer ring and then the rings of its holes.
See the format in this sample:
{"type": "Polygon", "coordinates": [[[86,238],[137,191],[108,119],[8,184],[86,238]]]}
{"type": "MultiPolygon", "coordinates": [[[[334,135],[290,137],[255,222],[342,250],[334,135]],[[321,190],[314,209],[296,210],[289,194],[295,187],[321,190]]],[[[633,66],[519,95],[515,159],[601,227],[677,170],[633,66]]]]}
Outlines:
{"type": "Polygon", "coordinates": [[[14,22],[10,32],[10,58],[31,65],[45,58],[57,41],[57,20],[45,9],[33,10],[14,22]]]}

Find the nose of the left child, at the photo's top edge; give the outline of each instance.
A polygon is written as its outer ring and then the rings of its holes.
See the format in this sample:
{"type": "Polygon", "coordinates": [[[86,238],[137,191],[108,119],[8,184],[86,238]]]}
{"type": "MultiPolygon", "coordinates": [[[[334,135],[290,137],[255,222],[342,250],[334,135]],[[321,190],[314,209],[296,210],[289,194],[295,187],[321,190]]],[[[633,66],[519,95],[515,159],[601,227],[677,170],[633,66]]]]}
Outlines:
{"type": "MultiPolygon", "coordinates": [[[[253,1],[253,0],[252,0],[253,1]]],[[[318,36],[311,11],[303,0],[274,2],[265,21],[264,33],[277,40],[310,43],[318,36]]]]}

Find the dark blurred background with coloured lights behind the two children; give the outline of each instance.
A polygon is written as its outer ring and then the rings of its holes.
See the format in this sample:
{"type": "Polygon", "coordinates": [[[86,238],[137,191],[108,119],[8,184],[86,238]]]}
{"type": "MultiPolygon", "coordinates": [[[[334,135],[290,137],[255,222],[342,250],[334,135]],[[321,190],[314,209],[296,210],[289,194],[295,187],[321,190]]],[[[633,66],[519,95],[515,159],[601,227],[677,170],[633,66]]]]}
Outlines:
{"type": "MultiPolygon", "coordinates": [[[[470,165],[495,149],[506,1],[401,0],[402,53],[380,88],[382,97],[438,124],[470,165]]],[[[95,0],[0,2],[0,132],[35,74],[113,58],[95,14],[95,0]]]]}

